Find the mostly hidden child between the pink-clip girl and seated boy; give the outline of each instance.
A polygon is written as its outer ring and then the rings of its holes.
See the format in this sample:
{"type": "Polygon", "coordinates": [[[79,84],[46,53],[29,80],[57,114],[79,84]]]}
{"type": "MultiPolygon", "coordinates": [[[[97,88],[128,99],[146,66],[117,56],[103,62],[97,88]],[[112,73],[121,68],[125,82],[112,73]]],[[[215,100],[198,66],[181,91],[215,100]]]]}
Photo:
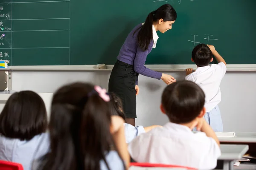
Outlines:
{"type": "MultiPolygon", "coordinates": [[[[125,119],[125,114],[122,112],[123,108],[122,108],[121,99],[113,93],[109,93],[108,95],[110,96],[111,114],[120,116],[123,119],[125,119]]],[[[143,126],[135,127],[128,123],[124,123],[124,127],[125,127],[126,143],[130,143],[134,138],[139,136],[141,133],[145,133],[145,132],[148,132],[148,131],[154,129],[155,127],[162,127],[162,126],[152,125],[152,126],[148,126],[148,127],[143,127],[143,126]]]]}

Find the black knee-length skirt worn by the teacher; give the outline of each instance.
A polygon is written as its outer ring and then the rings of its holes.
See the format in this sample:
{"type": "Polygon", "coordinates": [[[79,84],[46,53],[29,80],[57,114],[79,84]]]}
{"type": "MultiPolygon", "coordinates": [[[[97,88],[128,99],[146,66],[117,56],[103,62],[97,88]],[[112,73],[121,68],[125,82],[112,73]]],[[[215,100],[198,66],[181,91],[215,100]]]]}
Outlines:
{"type": "Polygon", "coordinates": [[[133,65],[116,61],[108,82],[108,91],[120,97],[126,118],[137,118],[135,81],[139,74],[133,65]]]}

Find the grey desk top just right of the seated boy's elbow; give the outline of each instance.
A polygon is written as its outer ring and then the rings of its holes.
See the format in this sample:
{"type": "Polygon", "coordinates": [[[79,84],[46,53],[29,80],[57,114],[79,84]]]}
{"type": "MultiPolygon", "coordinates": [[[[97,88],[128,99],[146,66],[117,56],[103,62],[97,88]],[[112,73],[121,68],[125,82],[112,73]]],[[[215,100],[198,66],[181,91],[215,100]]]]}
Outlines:
{"type": "Polygon", "coordinates": [[[246,144],[221,144],[221,156],[218,160],[237,160],[240,159],[249,149],[246,144]]]}

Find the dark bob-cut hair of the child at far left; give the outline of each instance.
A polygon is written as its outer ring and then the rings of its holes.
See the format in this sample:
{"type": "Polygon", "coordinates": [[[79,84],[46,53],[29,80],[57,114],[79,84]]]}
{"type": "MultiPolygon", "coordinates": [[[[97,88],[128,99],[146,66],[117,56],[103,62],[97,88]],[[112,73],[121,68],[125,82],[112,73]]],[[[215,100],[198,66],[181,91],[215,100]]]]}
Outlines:
{"type": "Polygon", "coordinates": [[[13,139],[30,140],[47,130],[43,99],[33,91],[12,94],[0,114],[0,133],[13,139]]]}

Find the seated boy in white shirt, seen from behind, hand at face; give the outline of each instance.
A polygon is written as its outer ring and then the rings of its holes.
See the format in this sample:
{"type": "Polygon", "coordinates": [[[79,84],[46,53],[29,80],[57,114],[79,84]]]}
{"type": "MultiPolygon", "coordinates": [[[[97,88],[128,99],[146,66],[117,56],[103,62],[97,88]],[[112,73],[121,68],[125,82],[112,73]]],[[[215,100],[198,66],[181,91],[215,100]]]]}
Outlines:
{"type": "Polygon", "coordinates": [[[217,136],[204,120],[204,99],[204,92],[194,82],[168,85],[160,108],[170,122],[137,136],[128,146],[131,158],[200,170],[215,168],[221,150],[217,136]],[[194,127],[201,132],[193,133],[194,127]]]}

